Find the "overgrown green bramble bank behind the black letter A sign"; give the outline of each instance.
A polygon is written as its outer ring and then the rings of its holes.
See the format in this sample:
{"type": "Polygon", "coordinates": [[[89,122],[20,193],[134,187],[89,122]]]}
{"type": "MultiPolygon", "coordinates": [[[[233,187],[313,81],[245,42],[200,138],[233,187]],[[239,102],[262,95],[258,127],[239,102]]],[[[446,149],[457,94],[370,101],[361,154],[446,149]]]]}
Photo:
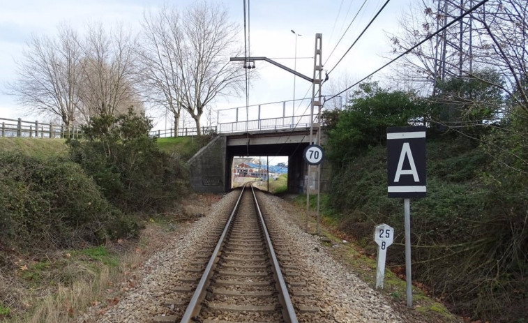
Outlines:
{"type": "MultiPolygon", "coordinates": [[[[515,322],[528,296],[527,177],[464,137],[445,139],[427,142],[428,196],[411,204],[413,278],[460,313],[515,322]]],[[[394,227],[387,257],[402,265],[403,203],[386,197],[386,185],[386,148],[378,146],[333,178],[331,207],[340,230],[369,253],[375,225],[394,227]]]]}

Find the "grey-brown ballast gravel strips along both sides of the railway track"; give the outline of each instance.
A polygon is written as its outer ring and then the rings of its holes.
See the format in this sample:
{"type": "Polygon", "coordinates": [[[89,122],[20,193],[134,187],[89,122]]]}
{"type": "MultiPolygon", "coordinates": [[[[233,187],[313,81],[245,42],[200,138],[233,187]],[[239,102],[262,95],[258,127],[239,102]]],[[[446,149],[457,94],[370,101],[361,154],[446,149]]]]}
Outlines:
{"type": "MultiPolygon", "coordinates": [[[[126,292],[120,294],[119,299],[91,306],[76,322],[143,323],[152,322],[158,315],[170,315],[165,301],[174,294],[174,288],[181,285],[176,278],[188,266],[188,258],[203,246],[211,227],[225,218],[238,195],[238,191],[228,193],[213,204],[211,213],[189,225],[186,232],[176,232],[163,250],[130,274],[130,280],[123,283],[126,292]]],[[[260,198],[264,209],[273,214],[273,222],[282,232],[282,241],[295,255],[294,261],[302,266],[302,275],[310,277],[310,284],[313,284],[310,290],[315,293],[313,299],[307,300],[308,305],[319,307],[326,314],[324,317],[331,318],[322,322],[403,322],[381,294],[335,262],[317,236],[299,229],[282,208],[280,198],[271,195],[260,198]]],[[[302,317],[300,322],[310,322],[309,319],[301,320],[302,317]]]]}

